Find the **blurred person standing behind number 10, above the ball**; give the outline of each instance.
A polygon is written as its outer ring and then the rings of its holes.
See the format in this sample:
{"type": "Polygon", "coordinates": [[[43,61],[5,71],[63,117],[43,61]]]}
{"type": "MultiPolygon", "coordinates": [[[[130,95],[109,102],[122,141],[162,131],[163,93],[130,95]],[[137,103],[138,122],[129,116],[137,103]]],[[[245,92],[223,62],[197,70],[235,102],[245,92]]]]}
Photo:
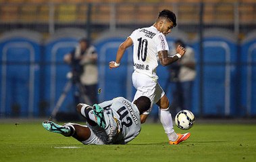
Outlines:
{"type": "MultiPolygon", "coordinates": [[[[172,83],[172,97],[174,111],[178,112],[182,109],[191,110],[193,99],[193,84],[196,76],[195,71],[195,51],[184,44],[180,39],[175,41],[175,46],[178,45],[186,49],[186,55],[169,66],[170,77],[168,82],[172,83]]],[[[176,54],[176,51],[171,53],[176,54]]],[[[171,54],[172,55],[172,54],[171,54]]],[[[176,114],[176,113],[173,113],[176,114]]]]}

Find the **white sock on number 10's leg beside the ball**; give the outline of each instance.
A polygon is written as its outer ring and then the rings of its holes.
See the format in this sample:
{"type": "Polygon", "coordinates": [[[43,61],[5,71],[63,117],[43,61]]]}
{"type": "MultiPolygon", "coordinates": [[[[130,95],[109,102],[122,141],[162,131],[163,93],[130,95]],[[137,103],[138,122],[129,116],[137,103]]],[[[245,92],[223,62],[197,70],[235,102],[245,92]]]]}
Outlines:
{"type": "Polygon", "coordinates": [[[163,125],[163,129],[165,130],[165,133],[168,136],[169,140],[176,141],[178,138],[178,135],[176,132],[174,132],[174,126],[172,123],[172,115],[168,109],[159,109],[159,118],[161,121],[161,124],[163,125]]]}

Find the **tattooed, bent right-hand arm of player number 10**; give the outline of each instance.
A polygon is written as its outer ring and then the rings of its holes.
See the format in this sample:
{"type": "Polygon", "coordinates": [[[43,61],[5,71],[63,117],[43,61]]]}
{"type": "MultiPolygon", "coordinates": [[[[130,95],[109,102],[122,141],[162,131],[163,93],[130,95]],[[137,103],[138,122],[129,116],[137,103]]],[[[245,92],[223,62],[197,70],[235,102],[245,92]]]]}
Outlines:
{"type": "Polygon", "coordinates": [[[158,57],[159,57],[159,62],[161,65],[166,66],[174,63],[178,59],[180,59],[185,53],[186,49],[184,49],[181,46],[178,46],[176,49],[177,54],[174,55],[173,57],[168,57],[168,51],[159,51],[158,52],[158,57]]]}

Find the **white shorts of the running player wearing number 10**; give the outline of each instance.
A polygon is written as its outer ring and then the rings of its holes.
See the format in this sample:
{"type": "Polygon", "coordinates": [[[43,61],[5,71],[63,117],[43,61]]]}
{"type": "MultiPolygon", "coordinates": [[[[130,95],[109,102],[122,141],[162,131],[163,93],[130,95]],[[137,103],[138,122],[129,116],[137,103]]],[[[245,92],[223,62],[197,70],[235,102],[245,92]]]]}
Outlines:
{"type": "Polygon", "coordinates": [[[134,72],[132,74],[132,84],[136,88],[136,93],[134,95],[134,100],[138,97],[146,96],[151,100],[151,108],[146,111],[145,115],[149,115],[152,109],[153,103],[157,103],[161,97],[165,94],[159,83],[145,74],[140,74],[134,72]]]}

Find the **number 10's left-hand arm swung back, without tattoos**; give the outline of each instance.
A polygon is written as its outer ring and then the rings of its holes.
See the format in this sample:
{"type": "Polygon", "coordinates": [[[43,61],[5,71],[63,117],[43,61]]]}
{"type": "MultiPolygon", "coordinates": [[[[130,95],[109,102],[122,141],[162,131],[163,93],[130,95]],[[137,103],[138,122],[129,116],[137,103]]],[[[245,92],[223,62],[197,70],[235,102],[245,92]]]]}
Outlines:
{"type": "Polygon", "coordinates": [[[132,38],[128,37],[126,41],[124,41],[118,48],[118,52],[116,54],[116,61],[109,62],[109,68],[118,68],[120,65],[121,59],[124,55],[124,52],[128,47],[132,46],[132,38]]]}

